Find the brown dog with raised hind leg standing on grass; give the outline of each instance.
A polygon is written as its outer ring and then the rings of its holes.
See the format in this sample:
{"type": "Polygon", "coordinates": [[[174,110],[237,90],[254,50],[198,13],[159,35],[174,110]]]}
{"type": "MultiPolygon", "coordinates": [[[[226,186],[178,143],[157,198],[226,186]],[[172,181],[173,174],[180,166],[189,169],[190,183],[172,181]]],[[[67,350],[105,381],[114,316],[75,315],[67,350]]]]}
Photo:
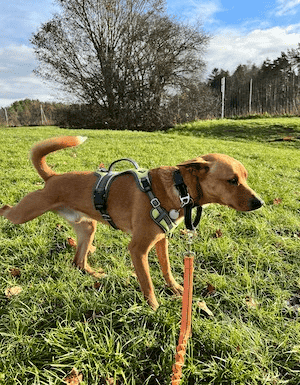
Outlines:
{"type": "MultiPolygon", "coordinates": [[[[103,220],[95,209],[93,191],[97,176],[91,172],[71,172],[58,175],[46,164],[50,152],[81,144],[85,138],[61,137],[36,144],[31,152],[33,165],[45,180],[44,189],[25,196],[16,206],[3,206],[0,215],[13,223],[30,221],[46,211],[55,211],[67,219],[77,233],[74,264],[94,276],[99,276],[87,263],[87,255],[95,247],[92,241],[97,221],[103,220]]],[[[258,209],[263,202],[246,183],[247,171],[237,160],[221,154],[209,154],[179,164],[177,167],[158,167],[150,170],[152,191],[161,206],[179,213],[183,219],[179,193],[173,174],[179,170],[195,206],[219,203],[238,211],[258,209]]],[[[174,293],[183,288],[174,279],[168,257],[168,241],[164,231],[151,219],[151,205],[132,175],[119,176],[111,185],[107,211],[116,226],[132,235],[129,251],[136,274],[149,305],[156,309],[158,302],[149,272],[148,253],[155,245],[167,285],[174,293]]]]}

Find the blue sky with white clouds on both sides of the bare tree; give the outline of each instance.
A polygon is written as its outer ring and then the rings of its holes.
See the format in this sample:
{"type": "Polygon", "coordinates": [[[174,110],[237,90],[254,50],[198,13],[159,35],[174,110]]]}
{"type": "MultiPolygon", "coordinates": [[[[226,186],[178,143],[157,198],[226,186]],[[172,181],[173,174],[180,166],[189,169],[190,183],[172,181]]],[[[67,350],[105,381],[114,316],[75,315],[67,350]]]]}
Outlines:
{"type": "MultiPolygon", "coordinates": [[[[55,11],[52,0],[0,0],[0,108],[26,98],[62,100],[33,74],[38,63],[29,41],[55,11]]],[[[300,0],[167,0],[167,12],[210,35],[206,76],[214,68],[261,65],[300,43],[300,0]]]]}

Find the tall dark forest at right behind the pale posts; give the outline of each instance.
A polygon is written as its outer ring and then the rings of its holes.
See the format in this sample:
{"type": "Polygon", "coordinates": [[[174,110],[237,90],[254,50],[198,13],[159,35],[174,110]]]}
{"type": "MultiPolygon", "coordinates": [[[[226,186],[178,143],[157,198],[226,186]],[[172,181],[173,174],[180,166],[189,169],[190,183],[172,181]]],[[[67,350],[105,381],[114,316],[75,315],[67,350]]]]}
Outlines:
{"type": "Polygon", "coordinates": [[[300,113],[300,44],[297,49],[260,67],[239,65],[230,75],[215,68],[208,78],[208,85],[220,98],[221,79],[226,78],[225,116],[251,113],[294,114],[300,113]]]}

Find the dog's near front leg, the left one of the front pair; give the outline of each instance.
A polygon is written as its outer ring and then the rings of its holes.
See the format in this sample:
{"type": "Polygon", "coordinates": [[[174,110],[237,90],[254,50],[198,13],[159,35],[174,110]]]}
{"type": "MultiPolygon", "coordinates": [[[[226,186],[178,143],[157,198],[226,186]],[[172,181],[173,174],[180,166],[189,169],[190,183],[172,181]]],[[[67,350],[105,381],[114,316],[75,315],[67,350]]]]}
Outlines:
{"type": "Polygon", "coordinates": [[[145,245],[145,239],[139,242],[133,238],[128,246],[128,249],[131,254],[131,259],[141,286],[142,293],[144,294],[144,297],[152,309],[156,310],[159,305],[155,297],[148,263],[148,253],[151,246],[151,244],[145,245]]]}

